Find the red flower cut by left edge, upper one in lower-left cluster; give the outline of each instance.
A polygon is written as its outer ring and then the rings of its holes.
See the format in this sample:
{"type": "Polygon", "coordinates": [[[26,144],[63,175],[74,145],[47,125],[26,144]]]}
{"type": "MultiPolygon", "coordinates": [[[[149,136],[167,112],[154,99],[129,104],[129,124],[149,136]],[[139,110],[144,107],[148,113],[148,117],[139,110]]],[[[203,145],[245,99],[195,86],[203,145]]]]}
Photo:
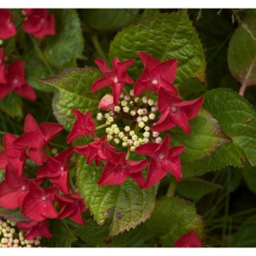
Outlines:
{"type": "Polygon", "coordinates": [[[0,152],[0,169],[5,168],[7,164],[21,175],[27,160],[26,147],[14,146],[13,142],[17,137],[11,134],[5,134],[3,137],[5,151],[0,152]]]}

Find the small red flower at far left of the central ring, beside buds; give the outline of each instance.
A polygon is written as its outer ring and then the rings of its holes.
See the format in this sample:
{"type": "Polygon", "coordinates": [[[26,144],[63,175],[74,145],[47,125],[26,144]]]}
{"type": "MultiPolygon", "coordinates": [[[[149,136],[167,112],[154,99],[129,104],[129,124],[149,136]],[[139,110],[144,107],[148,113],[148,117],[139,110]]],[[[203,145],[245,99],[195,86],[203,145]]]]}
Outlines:
{"type": "Polygon", "coordinates": [[[77,116],[73,128],[69,135],[66,137],[66,142],[69,144],[78,137],[92,135],[95,131],[95,121],[91,116],[91,111],[82,114],[79,110],[73,109],[71,111],[77,116]]]}

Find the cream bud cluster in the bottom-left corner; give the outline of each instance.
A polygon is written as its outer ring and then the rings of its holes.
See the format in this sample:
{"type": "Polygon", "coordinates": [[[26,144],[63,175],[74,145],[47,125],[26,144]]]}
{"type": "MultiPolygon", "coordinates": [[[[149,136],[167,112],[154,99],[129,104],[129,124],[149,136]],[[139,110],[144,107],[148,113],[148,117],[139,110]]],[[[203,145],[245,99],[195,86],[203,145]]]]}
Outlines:
{"type": "Polygon", "coordinates": [[[0,218],[0,247],[40,247],[41,236],[26,240],[24,234],[15,222],[0,218]]]}

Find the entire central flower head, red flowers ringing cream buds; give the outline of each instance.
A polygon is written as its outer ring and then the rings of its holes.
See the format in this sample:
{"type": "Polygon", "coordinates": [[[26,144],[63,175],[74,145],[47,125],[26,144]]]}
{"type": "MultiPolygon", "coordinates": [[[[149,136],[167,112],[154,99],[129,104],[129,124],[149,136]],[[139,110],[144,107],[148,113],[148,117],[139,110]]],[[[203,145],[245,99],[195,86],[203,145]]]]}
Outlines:
{"type": "Polygon", "coordinates": [[[176,60],[161,63],[144,52],[138,53],[138,57],[144,64],[144,70],[130,95],[123,87],[125,83],[133,83],[127,74],[127,69],[135,63],[133,60],[120,62],[115,58],[114,71],[111,71],[102,60],[95,61],[105,76],[92,84],[91,91],[110,86],[113,92],[113,97],[106,95],[99,104],[99,109],[107,113],[99,113],[97,119],[105,119],[105,124],[97,127],[90,111],[82,114],[79,110],[72,110],[77,119],[67,137],[67,143],[78,137],[92,135],[95,141],[84,146],[75,146],[74,150],[87,156],[87,164],[93,159],[98,166],[101,162],[106,162],[99,181],[100,186],[122,184],[128,176],[144,189],[151,188],[167,173],[173,174],[178,181],[182,179],[179,155],[185,148],[170,148],[170,135],[166,135],[162,141],[159,132],[179,126],[186,133],[191,133],[189,119],[196,117],[203,99],[183,101],[177,96],[178,90],[174,87],[176,60]],[[151,91],[149,98],[138,98],[147,91],[151,91]],[[158,101],[151,99],[154,92],[158,95],[158,101]],[[130,125],[119,127],[116,123],[119,119],[128,119],[130,125]],[[99,138],[96,132],[102,127],[107,127],[107,136],[99,138]],[[140,137],[141,134],[143,138],[140,137]],[[118,153],[117,148],[110,144],[110,141],[119,144],[121,140],[122,147],[128,148],[127,153],[118,153]],[[129,159],[133,151],[139,155],[150,156],[146,180],[141,171],[147,167],[148,160],[129,159]]]}

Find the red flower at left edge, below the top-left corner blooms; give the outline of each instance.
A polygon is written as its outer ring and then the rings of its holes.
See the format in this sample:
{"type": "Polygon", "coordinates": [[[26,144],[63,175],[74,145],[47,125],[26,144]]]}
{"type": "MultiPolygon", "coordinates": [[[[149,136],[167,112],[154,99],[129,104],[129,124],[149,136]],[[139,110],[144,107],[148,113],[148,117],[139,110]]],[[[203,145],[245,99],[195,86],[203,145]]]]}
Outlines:
{"type": "Polygon", "coordinates": [[[25,79],[24,62],[17,61],[9,64],[7,82],[0,83],[0,99],[5,98],[11,91],[30,101],[36,100],[34,89],[30,87],[25,79]]]}

